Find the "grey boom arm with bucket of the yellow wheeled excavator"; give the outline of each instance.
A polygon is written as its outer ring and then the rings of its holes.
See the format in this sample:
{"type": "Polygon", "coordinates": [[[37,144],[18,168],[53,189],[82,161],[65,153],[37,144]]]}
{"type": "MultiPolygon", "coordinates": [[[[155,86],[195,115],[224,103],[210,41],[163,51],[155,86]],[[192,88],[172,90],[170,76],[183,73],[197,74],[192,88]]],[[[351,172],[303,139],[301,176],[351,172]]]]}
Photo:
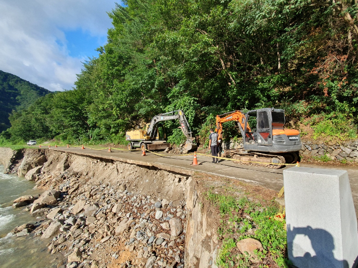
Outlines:
{"type": "Polygon", "coordinates": [[[186,150],[193,149],[194,145],[193,142],[195,138],[192,137],[192,130],[190,129],[190,125],[188,123],[187,118],[182,110],[171,111],[167,113],[161,113],[152,118],[147,128],[147,136],[150,139],[154,139],[156,133],[158,131],[158,123],[167,120],[176,120],[178,119],[180,122],[180,126],[178,128],[182,129],[182,132],[185,137],[187,137],[187,142],[185,144],[186,150]]]}

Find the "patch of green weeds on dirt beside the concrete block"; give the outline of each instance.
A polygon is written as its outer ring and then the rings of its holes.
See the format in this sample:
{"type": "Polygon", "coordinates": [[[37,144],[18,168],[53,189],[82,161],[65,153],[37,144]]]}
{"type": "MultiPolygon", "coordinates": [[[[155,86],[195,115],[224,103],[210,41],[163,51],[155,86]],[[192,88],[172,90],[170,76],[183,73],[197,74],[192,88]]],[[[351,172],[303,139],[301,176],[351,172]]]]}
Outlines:
{"type": "Polygon", "coordinates": [[[251,267],[253,263],[249,256],[236,248],[237,241],[248,237],[259,240],[264,248],[255,251],[260,266],[253,266],[269,267],[269,263],[274,261],[279,267],[288,267],[285,222],[274,220],[278,213],[276,207],[264,208],[247,197],[235,198],[210,191],[206,196],[219,208],[221,214],[218,236],[222,246],[216,260],[220,267],[251,267]]]}

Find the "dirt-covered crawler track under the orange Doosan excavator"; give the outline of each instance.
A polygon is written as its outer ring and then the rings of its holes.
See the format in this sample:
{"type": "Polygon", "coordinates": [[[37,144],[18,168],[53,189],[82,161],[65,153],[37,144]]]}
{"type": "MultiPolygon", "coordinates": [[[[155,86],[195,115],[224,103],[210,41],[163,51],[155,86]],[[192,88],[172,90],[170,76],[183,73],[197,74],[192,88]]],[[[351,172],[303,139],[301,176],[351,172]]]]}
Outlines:
{"type": "Polygon", "coordinates": [[[273,168],[273,169],[284,167],[286,163],[285,158],[283,156],[263,154],[257,152],[255,153],[235,152],[232,154],[232,159],[238,160],[238,161],[233,161],[236,164],[273,168]]]}

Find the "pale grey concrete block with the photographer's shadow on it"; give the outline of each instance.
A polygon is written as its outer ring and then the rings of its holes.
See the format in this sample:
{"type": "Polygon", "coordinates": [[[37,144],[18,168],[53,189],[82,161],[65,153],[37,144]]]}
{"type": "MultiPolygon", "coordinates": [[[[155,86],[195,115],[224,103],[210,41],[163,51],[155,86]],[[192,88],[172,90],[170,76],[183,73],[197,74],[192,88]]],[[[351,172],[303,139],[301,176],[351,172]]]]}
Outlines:
{"type": "Polygon", "coordinates": [[[288,258],[299,268],[352,268],[357,221],[345,170],[283,171],[288,258]]]}

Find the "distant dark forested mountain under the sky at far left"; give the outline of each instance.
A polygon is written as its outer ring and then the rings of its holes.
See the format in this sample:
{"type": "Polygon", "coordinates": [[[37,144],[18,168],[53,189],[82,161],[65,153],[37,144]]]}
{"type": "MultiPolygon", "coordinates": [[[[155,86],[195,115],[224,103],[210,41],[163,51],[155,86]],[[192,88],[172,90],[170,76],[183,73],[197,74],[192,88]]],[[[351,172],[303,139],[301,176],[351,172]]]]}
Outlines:
{"type": "Polygon", "coordinates": [[[9,115],[21,111],[50,91],[0,70],[0,132],[10,127],[9,115]]]}

